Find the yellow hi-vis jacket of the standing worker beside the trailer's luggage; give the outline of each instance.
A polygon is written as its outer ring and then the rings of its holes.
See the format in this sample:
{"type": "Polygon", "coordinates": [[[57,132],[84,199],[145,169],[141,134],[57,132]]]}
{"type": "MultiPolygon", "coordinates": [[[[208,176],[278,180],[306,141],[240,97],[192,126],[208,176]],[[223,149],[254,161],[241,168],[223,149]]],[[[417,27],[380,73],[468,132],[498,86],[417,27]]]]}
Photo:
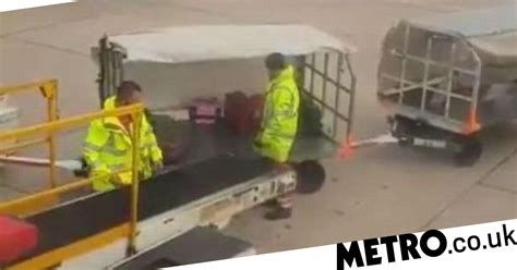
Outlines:
{"type": "Polygon", "coordinates": [[[261,131],[255,137],[255,150],[276,162],[286,162],[298,131],[300,93],[294,68],[289,65],[267,87],[261,131]]]}

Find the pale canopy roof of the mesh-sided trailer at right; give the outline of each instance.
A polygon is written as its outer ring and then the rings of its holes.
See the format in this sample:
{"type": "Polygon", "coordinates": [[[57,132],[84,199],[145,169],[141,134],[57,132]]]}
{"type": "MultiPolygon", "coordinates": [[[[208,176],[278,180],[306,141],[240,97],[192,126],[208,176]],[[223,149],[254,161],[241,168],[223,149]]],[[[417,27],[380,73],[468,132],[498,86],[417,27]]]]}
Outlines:
{"type": "Polygon", "coordinates": [[[494,64],[517,63],[517,2],[492,9],[445,13],[407,22],[416,27],[464,37],[494,64]]]}

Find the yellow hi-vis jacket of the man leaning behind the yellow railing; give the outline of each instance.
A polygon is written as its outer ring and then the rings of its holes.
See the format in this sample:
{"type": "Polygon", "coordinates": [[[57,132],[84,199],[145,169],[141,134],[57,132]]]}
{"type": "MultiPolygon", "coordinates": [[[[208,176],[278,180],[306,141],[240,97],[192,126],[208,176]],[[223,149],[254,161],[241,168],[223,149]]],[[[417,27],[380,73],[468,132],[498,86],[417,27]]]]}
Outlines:
{"type": "MultiPolygon", "coordinates": [[[[115,100],[116,97],[108,98],[104,108],[115,109],[115,100]]],[[[104,118],[91,123],[84,140],[83,157],[91,168],[95,191],[113,189],[116,187],[113,177],[120,180],[122,184],[131,184],[132,149],[131,135],[118,118],[104,118]]],[[[163,160],[153,127],[145,115],[142,118],[140,131],[140,158],[139,173],[142,180],[151,177],[153,165],[163,160]]]]}

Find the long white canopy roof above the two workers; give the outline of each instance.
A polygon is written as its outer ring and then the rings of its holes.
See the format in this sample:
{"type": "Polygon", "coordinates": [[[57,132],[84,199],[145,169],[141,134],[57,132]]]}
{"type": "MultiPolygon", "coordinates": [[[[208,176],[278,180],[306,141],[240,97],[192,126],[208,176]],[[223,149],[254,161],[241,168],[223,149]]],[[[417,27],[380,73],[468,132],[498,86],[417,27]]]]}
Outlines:
{"type": "Polygon", "coordinates": [[[200,25],[110,36],[129,62],[184,63],[243,59],[281,52],[308,54],[320,50],[352,53],[356,48],[305,25],[200,25]]]}

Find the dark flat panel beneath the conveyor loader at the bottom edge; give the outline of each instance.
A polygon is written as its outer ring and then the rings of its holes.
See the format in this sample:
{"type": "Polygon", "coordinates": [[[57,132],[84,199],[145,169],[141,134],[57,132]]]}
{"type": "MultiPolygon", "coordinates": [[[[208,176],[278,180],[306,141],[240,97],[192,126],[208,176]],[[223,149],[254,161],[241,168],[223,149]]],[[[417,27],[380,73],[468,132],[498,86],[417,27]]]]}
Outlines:
{"type": "Polygon", "coordinates": [[[233,258],[253,245],[207,228],[195,228],[173,240],[129,258],[116,270],[153,270],[233,258]]]}

